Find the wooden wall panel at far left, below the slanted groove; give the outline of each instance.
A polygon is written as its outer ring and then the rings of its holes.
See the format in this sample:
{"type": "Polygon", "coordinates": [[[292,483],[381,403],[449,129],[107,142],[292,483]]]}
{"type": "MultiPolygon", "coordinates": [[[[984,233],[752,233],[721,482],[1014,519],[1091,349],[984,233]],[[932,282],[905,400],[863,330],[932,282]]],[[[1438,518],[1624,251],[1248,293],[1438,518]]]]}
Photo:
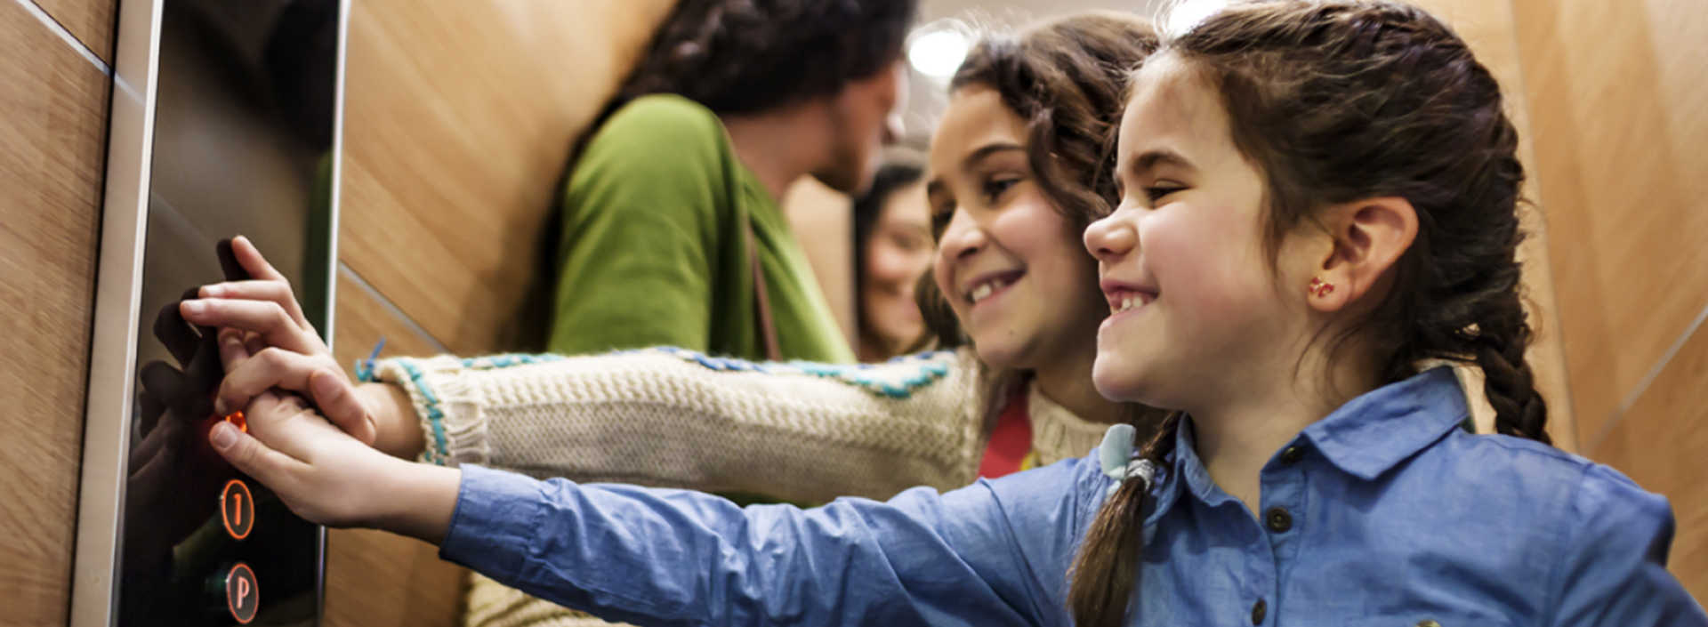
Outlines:
{"type": "Polygon", "coordinates": [[[63,625],[108,79],[0,2],[0,622],[63,625]]]}

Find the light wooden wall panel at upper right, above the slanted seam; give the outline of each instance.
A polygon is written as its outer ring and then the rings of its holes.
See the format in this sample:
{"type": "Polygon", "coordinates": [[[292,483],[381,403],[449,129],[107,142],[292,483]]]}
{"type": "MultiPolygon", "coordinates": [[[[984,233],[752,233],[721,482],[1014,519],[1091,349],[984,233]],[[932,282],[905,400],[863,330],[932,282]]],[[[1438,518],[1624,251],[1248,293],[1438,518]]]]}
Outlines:
{"type": "Polygon", "coordinates": [[[1708,39],[1693,0],[1513,9],[1578,434],[1594,453],[1708,306],[1708,39]]]}

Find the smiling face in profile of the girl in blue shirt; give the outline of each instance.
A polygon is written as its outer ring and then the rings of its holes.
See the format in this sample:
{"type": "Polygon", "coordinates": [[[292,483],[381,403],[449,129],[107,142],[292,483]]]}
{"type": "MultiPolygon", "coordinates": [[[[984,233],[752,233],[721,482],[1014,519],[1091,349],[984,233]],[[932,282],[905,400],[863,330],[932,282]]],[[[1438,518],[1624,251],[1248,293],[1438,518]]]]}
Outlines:
{"type": "Polygon", "coordinates": [[[1086,229],[1114,313],[1098,331],[1103,396],[1197,412],[1266,393],[1291,367],[1307,255],[1264,248],[1264,178],[1237,150],[1218,94],[1179,60],[1141,70],[1120,123],[1114,215],[1086,229]],[[1291,355],[1291,357],[1290,357],[1291,355]]]}

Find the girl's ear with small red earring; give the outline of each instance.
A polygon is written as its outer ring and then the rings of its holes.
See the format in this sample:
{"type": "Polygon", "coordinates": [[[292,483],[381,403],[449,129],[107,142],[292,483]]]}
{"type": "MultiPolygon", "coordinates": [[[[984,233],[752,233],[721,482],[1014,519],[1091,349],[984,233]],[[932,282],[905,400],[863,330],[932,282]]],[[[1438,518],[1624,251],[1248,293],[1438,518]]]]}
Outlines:
{"type": "Polygon", "coordinates": [[[1331,207],[1322,224],[1334,246],[1322,260],[1322,272],[1313,277],[1320,282],[1300,285],[1300,290],[1305,290],[1312,309],[1324,313],[1341,311],[1368,294],[1418,239],[1418,210],[1399,196],[1331,207]]]}

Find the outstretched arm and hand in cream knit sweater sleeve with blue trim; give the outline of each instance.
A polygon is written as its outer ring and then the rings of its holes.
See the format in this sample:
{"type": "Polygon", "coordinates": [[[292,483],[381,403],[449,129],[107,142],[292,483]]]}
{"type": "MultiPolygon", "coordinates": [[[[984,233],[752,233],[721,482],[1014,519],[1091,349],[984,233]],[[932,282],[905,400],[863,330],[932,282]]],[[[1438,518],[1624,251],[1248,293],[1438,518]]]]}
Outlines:
{"type": "MultiPolygon", "coordinates": [[[[258,277],[277,277],[248,241],[232,251],[258,277]]],[[[299,391],[395,456],[825,502],[962,487],[984,453],[980,400],[991,381],[970,349],[876,367],[748,364],[685,350],[400,357],[372,369],[384,383],[355,386],[295,314],[282,277],[207,285],[202,296],[186,319],[241,330],[256,355],[229,372],[222,408],[272,388],[299,391]],[[668,449],[670,463],[642,446],[668,449]]],[[[1086,439],[1081,431],[1102,434],[1090,424],[1057,427],[1042,431],[1073,453],[1045,453],[1045,465],[1095,444],[1069,446],[1086,439]]]]}

